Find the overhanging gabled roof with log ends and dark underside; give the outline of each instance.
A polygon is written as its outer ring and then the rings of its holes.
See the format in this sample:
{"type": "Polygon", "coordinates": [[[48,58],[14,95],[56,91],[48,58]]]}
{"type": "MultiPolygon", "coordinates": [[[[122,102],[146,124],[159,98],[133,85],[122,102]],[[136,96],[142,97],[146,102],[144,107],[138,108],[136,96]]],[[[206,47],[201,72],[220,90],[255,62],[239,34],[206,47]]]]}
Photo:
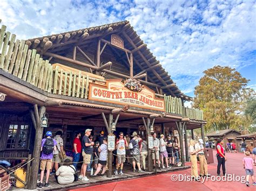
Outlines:
{"type": "MultiPolygon", "coordinates": [[[[165,69],[160,65],[156,56],[147,48],[143,40],[140,39],[137,32],[134,31],[129,21],[125,20],[122,22],[105,24],[101,26],[88,27],[76,31],[68,31],[60,34],[52,34],[50,36],[38,37],[28,39],[26,44],[29,48],[36,48],[37,52],[41,55],[45,51],[63,51],[65,46],[71,44],[83,44],[88,43],[92,39],[98,37],[107,37],[107,35],[117,33],[124,39],[124,47],[130,51],[136,47],[140,47],[138,51],[133,53],[134,60],[134,72],[139,73],[143,70],[152,67],[147,71],[148,81],[154,84],[158,84],[163,88],[163,92],[167,95],[180,97],[183,100],[191,101],[192,97],[183,94],[176,83],[173,82],[171,76],[165,69]]],[[[117,54],[118,54],[117,50],[117,54]]],[[[125,53],[124,53],[125,54],[125,53]]],[[[126,58],[126,56],[122,56],[126,58]]]]}

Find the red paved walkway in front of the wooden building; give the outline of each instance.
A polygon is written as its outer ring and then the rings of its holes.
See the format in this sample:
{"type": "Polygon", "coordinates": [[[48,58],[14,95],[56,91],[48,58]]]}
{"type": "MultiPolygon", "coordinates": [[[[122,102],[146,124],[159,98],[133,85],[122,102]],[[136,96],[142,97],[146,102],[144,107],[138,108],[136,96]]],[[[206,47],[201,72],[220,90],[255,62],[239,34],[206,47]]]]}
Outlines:
{"type": "MultiPolygon", "coordinates": [[[[215,151],[214,151],[215,155],[215,151]]],[[[242,158],[244,158],[242,153],[227,153],[227,174],[234,174],[233,176],[245,176],[245,170],[242,167],[242,158]]],[[[190,165],[187,162],[186,165],[190,165]]],[[[256,166],[254,166],[254,172],[256,171],[256,166]]],[[[186,169],[184,171],[172,172],[159,174],[156,176],[147,176],[145,178],[138,178],[133,180],[125,180],[119,182],[111,182],[98,186],[91,186],[87,188],[75,189],[79,190],[256,190],[256,186],[246,187],[245,183],[240,181],[212,181],[208,180],[204,183],[195,181],[172,181],[171,175],[190,175],[191,170],[186,169]]],[[[208,173],[212,176],[217,175],[217,160],[214,157],[214,164],[208,164],[208,173]]],[[[222,173],[222,172],[221,172],[222,173]]],[[[221,176],[222,177],[222,176],[221,176]]],[[[250,180],[251,184],[251,180],[250,180]]]]}

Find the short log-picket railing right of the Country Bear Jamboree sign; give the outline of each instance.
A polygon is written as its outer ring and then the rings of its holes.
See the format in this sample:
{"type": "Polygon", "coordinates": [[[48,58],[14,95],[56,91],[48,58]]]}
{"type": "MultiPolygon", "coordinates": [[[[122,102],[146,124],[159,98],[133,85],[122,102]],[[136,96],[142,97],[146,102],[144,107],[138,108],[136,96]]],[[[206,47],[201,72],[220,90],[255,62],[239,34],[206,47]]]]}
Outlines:
{"type": "Polygon", "coordinates": [[[196,120],[203,120],[204,118],[202,110],[184,107],[180,98],[164,95],[164,100],[166,112],[196,120]]]}

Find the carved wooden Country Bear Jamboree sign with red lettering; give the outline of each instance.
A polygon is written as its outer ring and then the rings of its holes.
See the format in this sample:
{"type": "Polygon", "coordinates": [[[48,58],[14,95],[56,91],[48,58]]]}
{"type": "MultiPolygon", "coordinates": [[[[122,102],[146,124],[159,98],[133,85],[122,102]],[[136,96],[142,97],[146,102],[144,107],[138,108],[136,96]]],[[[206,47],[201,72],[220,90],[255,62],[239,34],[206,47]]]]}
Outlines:
{"type": "Polygon", "coordinates": [[[121,79],[107,80],[106,86],[90,83],[89,100],[165,111],[164,99],[156,97],[153,90],[143,86],[139,92],[132,91],[121,79]]]}

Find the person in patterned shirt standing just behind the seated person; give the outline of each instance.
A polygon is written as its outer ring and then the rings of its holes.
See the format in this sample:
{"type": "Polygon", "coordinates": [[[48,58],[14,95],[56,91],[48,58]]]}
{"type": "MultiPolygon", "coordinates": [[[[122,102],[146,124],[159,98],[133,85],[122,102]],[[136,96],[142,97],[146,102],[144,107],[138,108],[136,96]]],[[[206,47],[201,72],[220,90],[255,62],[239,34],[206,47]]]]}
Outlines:
{"type": "MultiPolygon", "coordinates": [[[[55,172],[58,170],[58,167],[59,167],[59,163],[58,162],[62,162],[62,160],[60,159],[59,157],[59,152],[63,152],[63,139],[62,139],[62,131],[57,131],[55,133],[55,137],[53,139],[56,140],[56,150],[53,151],[53,158],[52,158],[52,165],[51,165],[51,168],[53,169],[53,167],[55,168],[55,172]]],[[[54,174],[52,172],[52,169],[51,169],[51,173],[50,174],[54,174]]]]}

